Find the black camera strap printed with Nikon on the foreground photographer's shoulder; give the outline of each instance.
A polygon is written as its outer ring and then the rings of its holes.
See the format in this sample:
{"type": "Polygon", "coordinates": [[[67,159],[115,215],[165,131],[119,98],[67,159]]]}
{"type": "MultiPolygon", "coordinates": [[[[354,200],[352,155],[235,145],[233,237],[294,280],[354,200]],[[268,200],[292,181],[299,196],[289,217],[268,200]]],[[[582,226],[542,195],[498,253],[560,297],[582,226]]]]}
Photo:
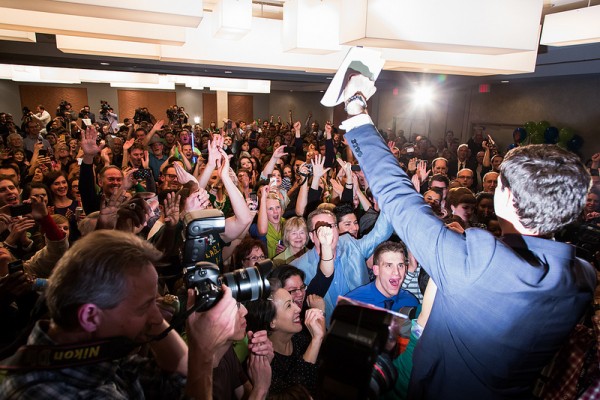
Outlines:
{"type": "Polygon", "coordinates": [[[0,370],[27,372],[72,368],[124,358],[139,346],[140,343],[125,337],[68,345],[26,345],[0,361],[0,370]]]}

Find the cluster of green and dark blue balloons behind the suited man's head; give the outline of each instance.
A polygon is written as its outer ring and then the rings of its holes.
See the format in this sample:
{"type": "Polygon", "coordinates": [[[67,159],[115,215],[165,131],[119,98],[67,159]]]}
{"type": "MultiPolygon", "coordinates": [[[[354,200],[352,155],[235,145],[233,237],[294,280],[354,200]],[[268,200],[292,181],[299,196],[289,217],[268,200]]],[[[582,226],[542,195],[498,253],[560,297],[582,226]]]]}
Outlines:
{"type": "Polygon", "coordinates": [[[569,128],[558,129],[551,126],[548,121],[526,122],[523,127],[515,129],[513,138],[515,139],[515,146],[516,143],[526,144],[526,139],[529,138],[531,144],[556,144],[574,153],[578,152],[583,146],[581,136],[575,134],[569,128]]]}

